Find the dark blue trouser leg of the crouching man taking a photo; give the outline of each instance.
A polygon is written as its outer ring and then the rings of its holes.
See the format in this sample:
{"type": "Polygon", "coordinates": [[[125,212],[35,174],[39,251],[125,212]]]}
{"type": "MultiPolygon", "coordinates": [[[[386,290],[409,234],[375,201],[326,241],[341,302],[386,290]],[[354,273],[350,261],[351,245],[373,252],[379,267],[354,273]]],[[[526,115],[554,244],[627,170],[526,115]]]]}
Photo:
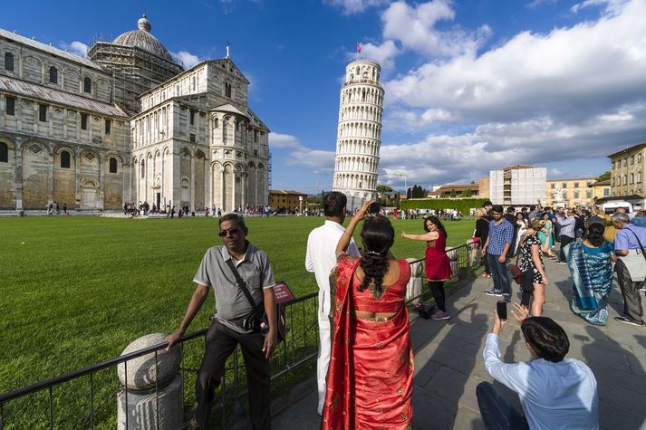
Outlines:
{"type": "Polygon", "coordinates": [[[491,382],[480,382],[476,387],[476,397],[487,430],[529,429],[525,416],[509,405],[491,382]]]}

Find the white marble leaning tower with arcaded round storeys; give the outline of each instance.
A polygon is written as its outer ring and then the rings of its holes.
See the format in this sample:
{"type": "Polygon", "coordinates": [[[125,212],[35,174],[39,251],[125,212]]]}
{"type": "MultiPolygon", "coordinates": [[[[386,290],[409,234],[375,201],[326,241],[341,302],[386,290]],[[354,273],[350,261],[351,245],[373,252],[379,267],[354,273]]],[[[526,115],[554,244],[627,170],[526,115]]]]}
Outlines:
{"type": "Polygon", "coordinates": [[[345,67],[333,190],[348,196],[350,209],[377,198],[384,94],[380,72],[381,66],[374,60],[355,60],[345,67]]]}

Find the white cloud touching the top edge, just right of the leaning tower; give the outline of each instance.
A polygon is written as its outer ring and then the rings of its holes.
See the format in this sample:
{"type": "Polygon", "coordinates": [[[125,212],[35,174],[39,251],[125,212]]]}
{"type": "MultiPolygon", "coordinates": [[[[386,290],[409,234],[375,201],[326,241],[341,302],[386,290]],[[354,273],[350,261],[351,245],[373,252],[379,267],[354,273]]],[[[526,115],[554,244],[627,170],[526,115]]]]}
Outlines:
{"type": "Polygon", "coordinates": [[[491,29],[486,24],[476,32],[466,32],[459,27],[447,31],[435,28],[440,21],[454,18],[449,0],[433,0],[414,6],[405,1],[395,2],[381,14],[383,37],[399,41],[405,49],[427,55],[451,57],[476,53],[491,29]]]}

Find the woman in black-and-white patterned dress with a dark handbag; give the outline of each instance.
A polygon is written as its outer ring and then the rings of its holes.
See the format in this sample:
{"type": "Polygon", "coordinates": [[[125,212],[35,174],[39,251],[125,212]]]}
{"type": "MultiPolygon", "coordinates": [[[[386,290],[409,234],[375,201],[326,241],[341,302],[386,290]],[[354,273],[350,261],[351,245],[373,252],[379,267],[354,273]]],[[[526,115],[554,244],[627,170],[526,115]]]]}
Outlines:
{"type": "Polygon", "coordinates": [[[541,241],[536,237],[539,232],[545,231],[544,229],[545,220],[538,217],[532,218],[529,221],[529,228],[520,239],[518,267],[522,272],[522,302],[529,307],[533,317],[543,315],[545,285],[549,283],[545,274],[545,264],[541,259],[541,241]],[[534,300],[531,300],[532,298],[534,300]]]}

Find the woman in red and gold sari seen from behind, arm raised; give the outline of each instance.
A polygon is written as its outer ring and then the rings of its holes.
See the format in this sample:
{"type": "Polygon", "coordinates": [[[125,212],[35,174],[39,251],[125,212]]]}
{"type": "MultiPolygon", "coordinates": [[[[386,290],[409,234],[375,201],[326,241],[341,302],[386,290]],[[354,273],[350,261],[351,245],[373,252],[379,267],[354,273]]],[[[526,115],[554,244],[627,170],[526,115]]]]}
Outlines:
{"type": "Polygon", "coordinates": [[[368,216],[362,258],[345,252],[370,201],[352,217],[338,258],[332,358],[323,429],[410,429],[413,354],[406,285],[410,265],[390,253],[395,232],[385,216],[368,216]]]}

